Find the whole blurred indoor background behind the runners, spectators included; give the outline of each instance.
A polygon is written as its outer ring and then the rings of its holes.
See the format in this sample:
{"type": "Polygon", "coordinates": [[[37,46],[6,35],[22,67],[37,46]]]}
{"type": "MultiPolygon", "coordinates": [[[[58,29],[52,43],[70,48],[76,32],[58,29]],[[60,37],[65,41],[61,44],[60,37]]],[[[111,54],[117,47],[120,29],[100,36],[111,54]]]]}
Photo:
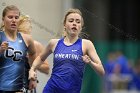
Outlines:
{"type": "MultiPolygon", "coordinates": [[[[30,16],[33,38],[44,45],[62,31],[65,12],[80,9],[83,32],[94,43],[106,71],[100,77],[87,65],[81,93],[140,93],[138,0],[0,0],[0,13],[11,4],[30,16]]],[[[52,68],[52,55],[48,60],[52,68]]],[[[50,74],[38,72],[37,93],[42,93],[50,74]]]]}

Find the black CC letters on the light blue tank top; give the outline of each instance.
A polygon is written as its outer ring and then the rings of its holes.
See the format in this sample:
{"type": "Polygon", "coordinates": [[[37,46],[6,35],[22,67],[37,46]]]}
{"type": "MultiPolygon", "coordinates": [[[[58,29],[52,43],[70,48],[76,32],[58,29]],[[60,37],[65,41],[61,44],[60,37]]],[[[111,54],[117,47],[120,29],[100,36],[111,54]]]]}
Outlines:
{"type": "Polygon", "coordinates": [[[22,51],[15,50],[12,47],[9,47],[4,53],[4,56],[6,58],[11,58],[13,61],[16,61],[16,62],[22,60],[22,55],[23,55],[22,51]]]}

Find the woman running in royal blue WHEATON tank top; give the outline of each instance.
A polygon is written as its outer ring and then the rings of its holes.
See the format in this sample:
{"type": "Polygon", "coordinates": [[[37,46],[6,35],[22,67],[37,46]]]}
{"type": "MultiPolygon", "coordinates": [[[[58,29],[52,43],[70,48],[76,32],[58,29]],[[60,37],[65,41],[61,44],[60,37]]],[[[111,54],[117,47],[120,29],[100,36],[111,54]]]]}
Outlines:
{"type": "Polygon", "coordinates": [[[43,93],[80,93],[85,64],[104,75],[104,68],[93,43],[79,38],[83,24],[80,10],[70,9],[63,22],[65,36],[50,40],[46,49],[33,62],[29,78],[34,80],[35,70],[53,53],[52,74],[43,93]]]}

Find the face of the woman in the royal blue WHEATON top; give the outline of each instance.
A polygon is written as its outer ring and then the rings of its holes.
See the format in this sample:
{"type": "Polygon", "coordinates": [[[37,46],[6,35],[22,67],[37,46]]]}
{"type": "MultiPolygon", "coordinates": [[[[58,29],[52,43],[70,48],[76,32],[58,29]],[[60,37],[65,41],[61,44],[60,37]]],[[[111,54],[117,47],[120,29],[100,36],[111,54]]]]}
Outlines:
{"type": "Polygon", "coordinates": [[[69,14],[64,27],[68,34],[78,36],[82,29],[81,16],[78,13],[69,14]]]}

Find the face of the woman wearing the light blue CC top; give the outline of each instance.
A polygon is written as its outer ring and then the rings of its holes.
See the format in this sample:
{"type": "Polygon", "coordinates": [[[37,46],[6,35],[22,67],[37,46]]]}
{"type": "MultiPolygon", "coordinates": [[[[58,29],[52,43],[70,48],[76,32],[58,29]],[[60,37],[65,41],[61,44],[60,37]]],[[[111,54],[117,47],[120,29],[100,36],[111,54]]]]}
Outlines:
{"type": "Polygon", "coordinates": [[[5,30],[16,31],[19,22],[19,11],[11,10],[3,17],[5,30]]]}

